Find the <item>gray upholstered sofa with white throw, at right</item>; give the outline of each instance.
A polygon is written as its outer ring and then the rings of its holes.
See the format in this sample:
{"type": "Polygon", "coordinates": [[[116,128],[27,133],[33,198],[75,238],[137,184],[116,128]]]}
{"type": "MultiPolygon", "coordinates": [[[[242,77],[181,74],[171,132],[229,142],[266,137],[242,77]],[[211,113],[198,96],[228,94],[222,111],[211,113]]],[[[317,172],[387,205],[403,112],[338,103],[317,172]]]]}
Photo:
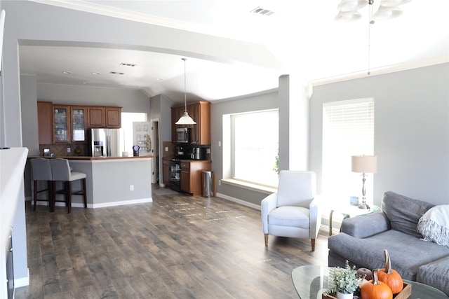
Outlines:
{"type": "MultiPolygon", "coordinates": [[[[392,267],[403,279],[449,295],[449,247],[425,241],[418,232],[420,218],[432,207],[429,202],[384,193],[382,211],[344,219],[341,232],[329,237],[329,266],[344,267],[348,260],[356,267],[383,268],[387,249],[392,267]]],[[[441,230],[449,231],[448,225],[441,230]]]]}

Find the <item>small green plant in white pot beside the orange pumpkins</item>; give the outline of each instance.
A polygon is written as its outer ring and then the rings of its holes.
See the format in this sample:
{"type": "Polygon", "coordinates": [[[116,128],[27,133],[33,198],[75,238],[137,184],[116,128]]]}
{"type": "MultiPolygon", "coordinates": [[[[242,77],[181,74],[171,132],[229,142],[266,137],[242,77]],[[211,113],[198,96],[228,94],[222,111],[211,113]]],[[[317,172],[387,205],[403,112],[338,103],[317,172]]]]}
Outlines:
{"type": "Polygon", "coordinates": [[[352,299],[364,278],[357,276],[356,267],[351,268],[348,261],[346,261],[346,267],[335,267],[330,270],[330,277],[334,286],[326,292],[326,295],[336,293],[338,299],[352,299]]]}

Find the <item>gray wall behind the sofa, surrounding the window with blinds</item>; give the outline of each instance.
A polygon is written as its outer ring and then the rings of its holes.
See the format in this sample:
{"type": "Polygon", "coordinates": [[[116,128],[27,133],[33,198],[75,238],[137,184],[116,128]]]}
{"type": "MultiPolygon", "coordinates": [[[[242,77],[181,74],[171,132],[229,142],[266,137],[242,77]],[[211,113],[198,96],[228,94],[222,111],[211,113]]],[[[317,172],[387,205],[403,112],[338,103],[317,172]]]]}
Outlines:
{"type": "Polygon", "coordinates": [[[322,107],[375,101],[374,203],[384,192],[449,204],[449,64],[320,85],[310,102],[310,161],[321,192],[322,107]]]}

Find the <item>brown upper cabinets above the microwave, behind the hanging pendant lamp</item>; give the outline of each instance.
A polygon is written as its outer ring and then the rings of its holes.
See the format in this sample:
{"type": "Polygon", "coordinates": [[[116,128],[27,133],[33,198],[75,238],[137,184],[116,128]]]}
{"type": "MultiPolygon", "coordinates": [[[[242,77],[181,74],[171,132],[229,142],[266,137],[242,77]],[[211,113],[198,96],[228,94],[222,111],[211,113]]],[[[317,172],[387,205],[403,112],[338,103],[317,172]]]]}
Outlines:
{"type": "Polygon", "coordinates": [[[176,141],[177,127],[190,127],[191,144],[210,144],[210,102],[200,101],[187,104],[187,113],[196,122],[196,125],[175,125],[184,113],[184,106],[176,106],[171,110],[172,139],[176,141]]]}

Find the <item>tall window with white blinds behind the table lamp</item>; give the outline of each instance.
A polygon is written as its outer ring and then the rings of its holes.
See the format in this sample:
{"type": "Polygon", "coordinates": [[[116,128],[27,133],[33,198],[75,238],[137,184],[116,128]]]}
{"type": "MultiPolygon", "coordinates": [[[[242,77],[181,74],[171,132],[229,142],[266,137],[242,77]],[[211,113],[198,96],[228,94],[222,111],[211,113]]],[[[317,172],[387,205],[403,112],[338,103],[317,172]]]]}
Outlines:
{"type": "MultiPolygon", "coordinates": [[[[354,99],[323,104],[322,193],[335,200],[361,198],[362,179],[351,172],[351,155],[374,154],[374,100],[354,99]]],[[[373,200],[373,175],[366,181],[367,202],[373,200]]]]}

